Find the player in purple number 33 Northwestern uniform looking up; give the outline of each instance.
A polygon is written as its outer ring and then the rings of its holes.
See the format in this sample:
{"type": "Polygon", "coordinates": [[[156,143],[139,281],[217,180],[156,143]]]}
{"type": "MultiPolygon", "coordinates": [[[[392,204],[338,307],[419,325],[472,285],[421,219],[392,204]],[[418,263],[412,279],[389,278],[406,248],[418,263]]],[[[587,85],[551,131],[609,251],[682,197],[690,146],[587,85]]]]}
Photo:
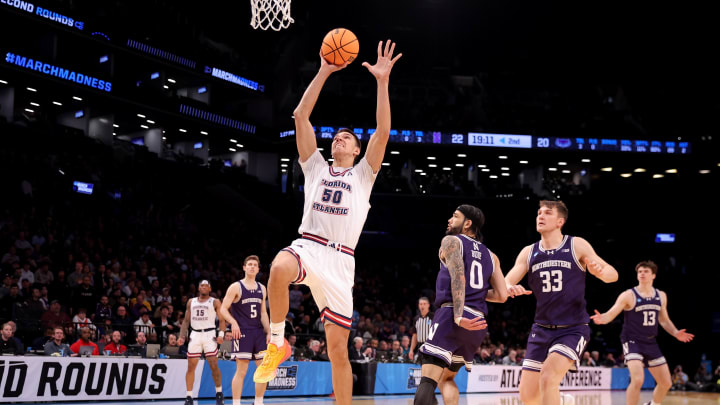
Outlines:
{"type": "Polygon", "coordinates": [[[540,201],[535,219],[540,241],[520,252],[505,277],[511,297],[535,294],[537,299],[520,377],[520,399],[525,404],[562,403],[560,382],[569,370],[577,370],[590,338],[586,270],[606,283],[618,278],[615,268],[585,239],[562,234],[567,217],[563,202],[540,201]],[[532,292],[518,285],[525,274],[532,292]]]}

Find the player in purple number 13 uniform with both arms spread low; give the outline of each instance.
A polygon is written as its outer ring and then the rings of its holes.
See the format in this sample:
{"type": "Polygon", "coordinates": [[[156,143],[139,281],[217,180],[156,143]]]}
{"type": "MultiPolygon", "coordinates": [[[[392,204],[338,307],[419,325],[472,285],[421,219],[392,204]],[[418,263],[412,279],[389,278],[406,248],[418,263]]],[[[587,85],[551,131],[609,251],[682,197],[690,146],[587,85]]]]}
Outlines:
{"type": "Polygon", "coordinates": [[[672,383],[670,369],[655,341],[658,324],[681,342],[689,342],[694,336],[685,332],[685,329],[678,330],[670,320],[667,313],[667,295],[653,287],[657,265],[652,261],[640,262],[635,266],[635,271],[637,287],[620,294],[615,305],[604,314],[595,310],[595,315],[591,318],[596,324],[603,325],[615,319],[620,312],[625,312],[620,341],[625,354],[625,364],[630,371],[630,385],[625,393],[626,402],[628,405],[638,403],[645,377],[644,366],[650,370],[657,383],[652,402],[648,403],[659,404],[672,383]]]}

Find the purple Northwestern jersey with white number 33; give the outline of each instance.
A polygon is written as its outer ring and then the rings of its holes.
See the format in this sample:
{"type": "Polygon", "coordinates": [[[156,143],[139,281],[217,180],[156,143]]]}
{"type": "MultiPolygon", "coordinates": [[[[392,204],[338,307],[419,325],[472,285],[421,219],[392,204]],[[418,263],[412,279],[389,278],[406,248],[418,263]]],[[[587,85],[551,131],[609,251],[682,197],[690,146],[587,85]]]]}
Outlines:
{"type": "Polygon", "coordinates": [[[541,241],[528,255],[528,283],[537,299],[535,323],[577,325],[588,323],[585,308],[585,268],[575,255],[574,238],[565,235],[557,249],[545,250],[541,241]]]}

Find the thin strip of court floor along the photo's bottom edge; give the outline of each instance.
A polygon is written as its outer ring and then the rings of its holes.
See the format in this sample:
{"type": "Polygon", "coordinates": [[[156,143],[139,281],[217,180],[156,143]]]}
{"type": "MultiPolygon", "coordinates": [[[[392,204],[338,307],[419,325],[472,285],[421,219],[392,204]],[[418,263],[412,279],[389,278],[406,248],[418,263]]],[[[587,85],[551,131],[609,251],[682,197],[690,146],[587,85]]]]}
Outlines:
{"type": "MultiPolygon", "coordinates": [[[[625,391],[584,391],[568,392],[575,397],[576,405],[624,405],[625,391]]],[[[643,391],[640,395],[640,403],[652,399],[651,391],[643,391]]],[[[442,399],[438,396],[442,404],[442,399]]],[[[266,404],[299,404],[311,403],[313,405],[335,404],[333,398],[328,397],[302,397],[302,398],[266,398],[266,404]]],[[[46,402],[47,404],[48,402],[46,402]]],[[[169,405],[182,404],[183,401],[118,401],[99,402],[103,405],[169,405]]],[[[214,400],[196,401],[199,405],[215,404],[214,400]]],[[[225,403],[230,405],[232,401],[227,398],[225,403]]],[[[252,398],[244,399],[243,404],[252,404],[252,398]]],[[[378,396],[356,396],[353,404],[360,405],[411,405],[412,396],[409,395],[378,395],[378,396]]],[[[53,404],[83,404],[87,402],[55,402],[53,404]]],[[[466,394],[460,396],[459,405],[520,405],[518,394],[466,394]]],[[[663,401],[663,405],[720,405],[720,394],[704,392],[670,392],[663,401]]]]}

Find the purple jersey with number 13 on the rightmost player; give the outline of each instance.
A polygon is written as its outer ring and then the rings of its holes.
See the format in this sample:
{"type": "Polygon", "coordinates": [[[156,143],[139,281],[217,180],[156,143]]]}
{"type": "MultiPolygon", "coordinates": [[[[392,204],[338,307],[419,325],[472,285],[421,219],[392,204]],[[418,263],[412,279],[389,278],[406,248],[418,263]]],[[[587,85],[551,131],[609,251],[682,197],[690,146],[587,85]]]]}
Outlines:
{"type": "Polygon", "coordinates": [[[638,293],[637,288],[631,290],[635,299],[635,307],[625,311],[625,320],[620,337],[623,341],[639,340],[642,342],[655,341],[657,336],[658,316],[662,302],[660,292],[655,289],[652,297],[645,298],[638,293]]]}

